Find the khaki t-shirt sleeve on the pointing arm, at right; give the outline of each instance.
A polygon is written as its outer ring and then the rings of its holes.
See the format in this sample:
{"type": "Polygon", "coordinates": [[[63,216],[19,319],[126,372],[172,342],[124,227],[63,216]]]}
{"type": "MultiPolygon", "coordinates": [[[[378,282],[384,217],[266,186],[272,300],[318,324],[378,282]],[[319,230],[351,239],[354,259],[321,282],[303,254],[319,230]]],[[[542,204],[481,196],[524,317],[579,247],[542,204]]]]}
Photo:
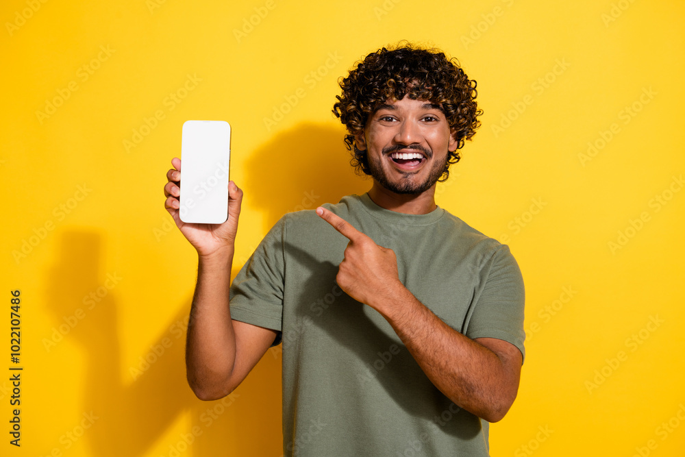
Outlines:
{"type": "Polygon", "coordinates": [[[519,264],[507,245],[493,254],[485,284],[466,330],[469,338],[498,338],[519,348],[525,358],[523,305],[525,293],[519,264]]]}

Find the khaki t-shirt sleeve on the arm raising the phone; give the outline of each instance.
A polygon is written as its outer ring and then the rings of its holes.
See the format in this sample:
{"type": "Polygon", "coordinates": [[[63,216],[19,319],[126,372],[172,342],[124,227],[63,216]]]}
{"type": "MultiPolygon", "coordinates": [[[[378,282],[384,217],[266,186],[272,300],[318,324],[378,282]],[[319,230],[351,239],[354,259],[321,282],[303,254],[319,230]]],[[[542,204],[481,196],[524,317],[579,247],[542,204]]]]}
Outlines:
{"type": "Polygon", "coordinates": [[[284,291],[285,219],[280,219],[238,272],[229,293],[231,318],[277,330],[281,342],[284,291]]]}

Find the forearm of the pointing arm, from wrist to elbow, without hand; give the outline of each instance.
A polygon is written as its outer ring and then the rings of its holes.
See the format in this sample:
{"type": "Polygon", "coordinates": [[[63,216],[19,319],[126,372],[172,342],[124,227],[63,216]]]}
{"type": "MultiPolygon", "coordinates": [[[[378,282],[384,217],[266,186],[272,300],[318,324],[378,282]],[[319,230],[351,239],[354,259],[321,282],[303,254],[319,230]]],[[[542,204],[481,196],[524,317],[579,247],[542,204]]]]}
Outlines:
{"type": "Polygon", "coordinates": [[[487,421],[506,414],[519,379],[495,352],[449,327],[406,288],[386,305],[382,315],[441,392],[487,421]]]}

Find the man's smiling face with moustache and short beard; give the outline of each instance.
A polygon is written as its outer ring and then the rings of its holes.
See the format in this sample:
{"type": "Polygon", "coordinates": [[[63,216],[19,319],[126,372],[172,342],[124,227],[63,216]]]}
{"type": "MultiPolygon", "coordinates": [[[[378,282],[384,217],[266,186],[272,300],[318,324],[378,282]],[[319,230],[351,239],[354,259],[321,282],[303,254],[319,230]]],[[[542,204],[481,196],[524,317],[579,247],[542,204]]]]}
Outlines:
{"type": "Polygon", "coordinates": [[[457,148],[440,106],[425,100],[386,101],[355,137],[366,150],[371,176],[397,194],[419,195],[431,189],[445,171],[447,151],[457,148]]]}

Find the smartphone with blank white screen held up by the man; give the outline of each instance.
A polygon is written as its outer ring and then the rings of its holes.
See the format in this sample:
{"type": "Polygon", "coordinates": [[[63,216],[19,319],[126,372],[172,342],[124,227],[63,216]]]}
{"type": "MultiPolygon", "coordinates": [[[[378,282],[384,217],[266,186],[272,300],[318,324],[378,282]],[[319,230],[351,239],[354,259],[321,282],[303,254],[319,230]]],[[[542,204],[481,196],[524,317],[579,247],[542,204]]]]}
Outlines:
{"type": "Polygon", "coordinates": [[[228,219],[231,126],[226,121],[186,121],[181,134],[179,215],[187,223],[228,219]]]}

